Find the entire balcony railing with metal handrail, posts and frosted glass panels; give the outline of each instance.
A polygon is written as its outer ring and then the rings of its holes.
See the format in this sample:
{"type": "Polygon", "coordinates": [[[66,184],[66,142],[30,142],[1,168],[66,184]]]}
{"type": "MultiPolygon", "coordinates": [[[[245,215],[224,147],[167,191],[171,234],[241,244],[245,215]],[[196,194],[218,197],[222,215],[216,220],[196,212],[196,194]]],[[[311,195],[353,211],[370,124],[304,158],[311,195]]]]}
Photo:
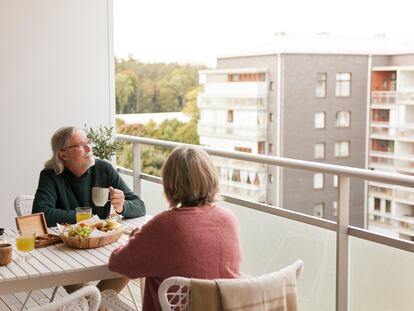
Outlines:
{"type": "MultiPolygon", "coordinates": [[[[140,144],[174,147],[177,143],[118,135],[134,143],[135,170],[129,182],[146,201],[148,212],[166,208],[160,179],[140,173],[140,144]]],[[[241,228],[243,271],[262,274],[294,259],[305,262],[299,282],[304,311],[412,310],[414,243],[349,225],[350,178],[412,188],[414,177],[308,161],[205,148],[214,156],[337,175],[337,223],[297,212],[224,196],[241,228]],[[259,225],[260,224],[260,225],[259,225]]]]}

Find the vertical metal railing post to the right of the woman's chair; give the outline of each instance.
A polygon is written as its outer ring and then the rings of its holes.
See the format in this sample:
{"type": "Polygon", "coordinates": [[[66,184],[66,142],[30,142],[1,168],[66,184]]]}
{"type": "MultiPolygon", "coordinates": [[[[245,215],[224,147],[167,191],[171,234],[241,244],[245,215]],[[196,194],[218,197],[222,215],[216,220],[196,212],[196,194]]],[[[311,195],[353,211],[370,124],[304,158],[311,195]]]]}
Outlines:
{"type": "Polygon", "coordinates": [[[348,227],[350,178],[339,175],[336,231],[336,311],[348,311],[348,227]]]}

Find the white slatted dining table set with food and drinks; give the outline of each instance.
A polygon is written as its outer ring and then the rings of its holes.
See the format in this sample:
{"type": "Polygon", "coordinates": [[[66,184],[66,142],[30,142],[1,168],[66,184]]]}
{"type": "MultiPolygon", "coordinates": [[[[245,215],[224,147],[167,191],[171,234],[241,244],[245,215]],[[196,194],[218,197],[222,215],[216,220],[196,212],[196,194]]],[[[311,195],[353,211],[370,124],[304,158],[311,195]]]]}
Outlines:
{"type": "MultiPolygon", "coordinates": [[[[123,225],[132,229],[150,219],[150,215],[124,219],[123,225]]],[[[6,230],[6,234],[14,233],[15,230],[6,230]]],[[[58,234],[57,228],[49,228],[49,233],[58,234]]],[[[93,249],[74,249],[63,243],[36,248],[25,262],[16,260],[21,255],[13,243],[13,261],[0,267],[0,295],[120,277],[108,270],[108,260],[128,238],[123,234],[117,242],[93,249]]]]}

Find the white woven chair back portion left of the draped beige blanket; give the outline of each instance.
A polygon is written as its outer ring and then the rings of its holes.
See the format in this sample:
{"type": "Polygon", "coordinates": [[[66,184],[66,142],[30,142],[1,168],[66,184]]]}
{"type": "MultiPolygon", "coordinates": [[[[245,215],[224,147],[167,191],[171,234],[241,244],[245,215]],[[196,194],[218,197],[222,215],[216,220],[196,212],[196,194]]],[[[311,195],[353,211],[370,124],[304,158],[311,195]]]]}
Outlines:
{"type": "Polygon", "coordinates": [[[173,276],[165,279],[158,289],[158,299],[163,311],[189,311],[191,297],[191,279],[173,276]],[[168,289],[174,287],[174,292],[168,289]]]}

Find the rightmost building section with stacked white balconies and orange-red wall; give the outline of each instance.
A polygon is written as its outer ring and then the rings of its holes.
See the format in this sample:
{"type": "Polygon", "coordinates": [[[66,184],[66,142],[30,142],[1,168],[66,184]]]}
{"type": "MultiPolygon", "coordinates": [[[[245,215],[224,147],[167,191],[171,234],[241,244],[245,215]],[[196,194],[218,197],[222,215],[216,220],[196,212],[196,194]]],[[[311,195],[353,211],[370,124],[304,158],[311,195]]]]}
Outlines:
{"type": "MultiPolygon", "coordinates": [[[[414,55],[372,57],[369,168],[414,175],[414,55]]],[[[412,188],[369,184],[369,226],[414,240],[412,188]]]]}

